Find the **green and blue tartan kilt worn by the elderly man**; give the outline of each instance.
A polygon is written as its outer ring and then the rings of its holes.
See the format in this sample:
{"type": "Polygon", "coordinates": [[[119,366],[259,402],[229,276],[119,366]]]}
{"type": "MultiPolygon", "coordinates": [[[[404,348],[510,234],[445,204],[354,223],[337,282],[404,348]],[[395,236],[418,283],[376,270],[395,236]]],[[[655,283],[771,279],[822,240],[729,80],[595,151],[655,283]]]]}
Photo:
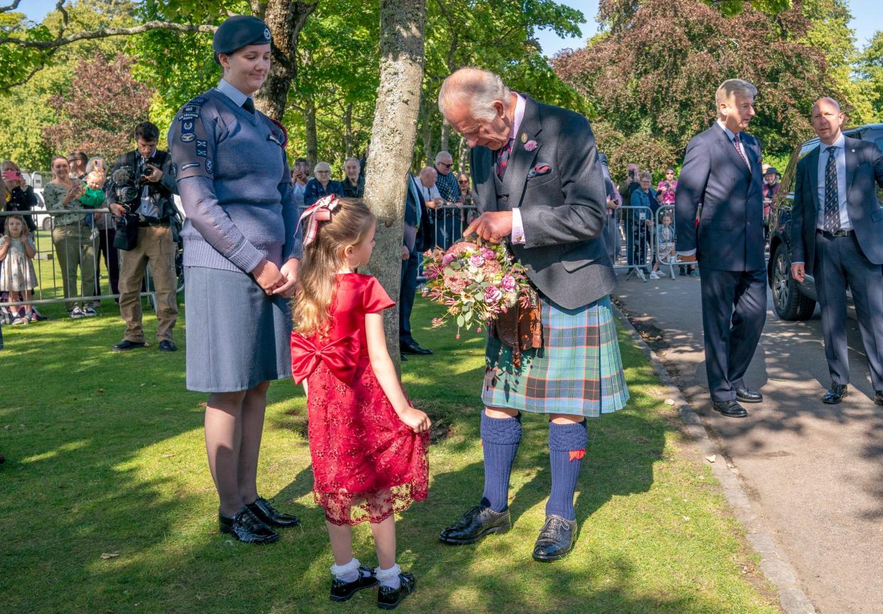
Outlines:
{"type": "Polygon", "coordinates": [[[586,418],[622,409],[629,389],[610,297],[564,309],[540,295],[540,310],[543,347],[522,352],[519,368],[511,348],[487,337],[485,406],[586,418]]]}

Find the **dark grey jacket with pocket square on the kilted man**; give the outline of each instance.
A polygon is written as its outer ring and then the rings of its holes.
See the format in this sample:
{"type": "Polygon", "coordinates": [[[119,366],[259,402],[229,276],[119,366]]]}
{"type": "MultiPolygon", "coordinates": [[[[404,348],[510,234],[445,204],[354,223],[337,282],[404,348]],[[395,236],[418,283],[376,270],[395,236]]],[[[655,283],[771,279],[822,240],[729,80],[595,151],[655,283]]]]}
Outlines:
{"type": "Polygon", "coordinates": [[[494,152],[472,148],[473,191],[479,211],[519,207],[524,245],[511,245],[534,285],[566,309],[585,307],[607,296],[616,284],[604,244],[607,192],[585,117],[525,96],[518,128],[497,201],[494,152]],[[535,141],[536,148],[525,145],[535,141]],[[530,171],[548,166],[543,174],[530,171]]]}

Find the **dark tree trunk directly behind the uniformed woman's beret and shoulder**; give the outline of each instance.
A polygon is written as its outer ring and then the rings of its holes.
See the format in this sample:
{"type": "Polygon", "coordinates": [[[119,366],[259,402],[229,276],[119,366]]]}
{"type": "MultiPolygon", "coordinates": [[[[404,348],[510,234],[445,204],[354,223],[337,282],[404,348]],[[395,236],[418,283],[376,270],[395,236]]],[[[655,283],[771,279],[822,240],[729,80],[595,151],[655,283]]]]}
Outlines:
{"type": "Polygon", "coordinates": [[[298,38],[306,17],[315,10],[317,2],[268,0],[266,4],[253,3],[273,34],[273,64],[267,80],[257,95],[254,106],[275,120],[281,120],[288,102],[291,82],[298,73],[298,38]]]}

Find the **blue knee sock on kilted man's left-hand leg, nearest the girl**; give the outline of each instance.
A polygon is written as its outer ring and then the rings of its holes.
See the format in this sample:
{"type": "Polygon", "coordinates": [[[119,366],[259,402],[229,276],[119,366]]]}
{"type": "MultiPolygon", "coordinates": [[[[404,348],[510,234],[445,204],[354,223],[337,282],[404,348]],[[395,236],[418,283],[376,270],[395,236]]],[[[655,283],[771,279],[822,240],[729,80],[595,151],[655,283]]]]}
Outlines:
{"type": "Polygon", "coordinates": [[[481,443],[485,452],[485,491],[481,504],[502,512],[509,507],[509,474],[521,442],[521,414],[488,418],[481,413],[481,443]]]}

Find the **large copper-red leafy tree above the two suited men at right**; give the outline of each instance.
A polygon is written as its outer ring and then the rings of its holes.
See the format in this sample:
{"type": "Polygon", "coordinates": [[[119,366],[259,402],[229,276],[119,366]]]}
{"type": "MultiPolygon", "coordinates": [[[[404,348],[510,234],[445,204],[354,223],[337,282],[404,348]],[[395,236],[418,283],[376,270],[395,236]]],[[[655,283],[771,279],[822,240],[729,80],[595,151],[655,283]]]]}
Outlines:
{"type": "Polygon", "coordinates": [[[751,133],[771,153],[810,132],[816,98],[841,94],[825,85],[822,51],[800,42],[809,23],[799,2],[775,15],[746,4],[729,17],[701,0],[601,0],[599,8],[605,31],[553,65],[598,110],[600,148],[615,173],[629,162],[654,171],[678,162],[716,117],[723,80],[758,87],[751,133]]]}

